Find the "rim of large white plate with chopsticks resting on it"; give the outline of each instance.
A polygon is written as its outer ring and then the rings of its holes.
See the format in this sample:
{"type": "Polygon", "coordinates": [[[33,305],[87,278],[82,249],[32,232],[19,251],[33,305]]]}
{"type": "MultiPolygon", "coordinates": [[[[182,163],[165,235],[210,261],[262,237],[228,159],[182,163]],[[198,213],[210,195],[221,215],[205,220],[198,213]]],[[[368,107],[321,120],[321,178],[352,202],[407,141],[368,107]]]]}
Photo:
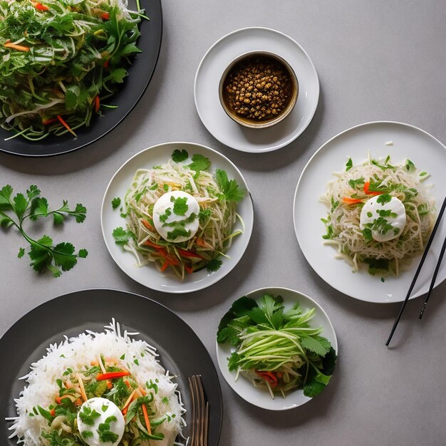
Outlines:
{"type": "MultiPolygon", "coordinates": [[[[311,162],[313,162],[313,159],[318,155],[318,153],[320,151],[322,151],[323,149],[325,149],[326,145],[331,144],[331,142],[333,140],[336,140],[337,138],[341,137],[345,133],[349,133],[349,132],[351,132],[353,130],[356,130],[358,128],[367,128],[367,127],[372,126],[372,125],[398,125],[398,126],[401,126],[403,128],[404,127],[405,128],[410,128],[411,130],[415,130],[417,132],[422,133],[427,138],[430,138],[433,142],[437,143],[438,145],[440,145],[441,147],[443,147],[446,150],[446,146],[440,140],[435,138],[435,136],[433,136],[431,133],[427,132],[426,130],[423,130],[422,128],[419,128],[419,127],[417,127],[416,125],[413,125],[413,124],[403,123],[403,122],[394,121],[394,120],[373,120],[373,121],[368,121],[368,122],[365,122],[365,123],[356,124],[356,125],[353,125],[350,128],[342,130],[341,132],[339,132],[336,135],[334,135],[331,138],[329,138],[326,142],[324,142],[321,145],[321,147],[319,147],[316,150],[316,152],[313,153],[313,155],[311,155],[311,157],[308,160],[308,162],[306,162],[306,165],[305,165],[304,169],[302,170],[301,175],[299,175],[299,180],[297,182],[296,189],[294,191],[294,197],[293,197],[293,226],[294,226],[294,234],[296,235],[296,239],[297,239],[297,242],[299,243],[299,247],[300,248],[301,248],[301,242],[300,242],[299,234],[298,234],[298,231],[297,231],[297,228],[296,228],[296,199],[297,199],[297,194],[298,194],[298,190],[299,190],[299,185],[301,184],[301,180],[304,177],[304,173],[306,172],[306,170],[309,167],[309,165],[311,164],[311,162]]],[[[373,300],[370,300],[370,299],[361,299],[358,296],[353,296],[352,294],[349,294],[346,291],[343,291],[340,286],[333,284],[332,281],[327,281],[326,279],[323,279],[319,275],[318,271],[316,271],[316,269],[314,268],[313,264],[311,264],[311,262],[308,261],[307,256],[306,256],[306,254],[305,254],[303,249],[301,249],[301,252],[302,252],[302,254],[304,254],[306,262],[311,266],[311,269],[313,269],[313,271],[318,275],[318,277],[322,281],[324,281],[326,284],[331,286],[333,289],[336,289],[337,291],[341,292],[342,294],[345,294],[346,296],[352,297],[353,299],[357,299],[358,301],[368,302],[370,304],[395,304],[395,303],[400,303],[400,302],[404,301],[404,298],[402,298],[402,299],[400,299],[398,301],[390,301],[390,300],[373,301],[373,300]]],[[[434,288],[436,286],[440,285],[440,283],[441,283],[441,281],[439,283],[435,284],[434,288]]],[[[414,294],[412,294],[410,296],[410,300],[415,299],[415,298],[417,298],[419,296],[422,296],[422,294],[425,294],[426,292],[427,291],[417,291],[417,292],[415,292],[414,294]]]]}

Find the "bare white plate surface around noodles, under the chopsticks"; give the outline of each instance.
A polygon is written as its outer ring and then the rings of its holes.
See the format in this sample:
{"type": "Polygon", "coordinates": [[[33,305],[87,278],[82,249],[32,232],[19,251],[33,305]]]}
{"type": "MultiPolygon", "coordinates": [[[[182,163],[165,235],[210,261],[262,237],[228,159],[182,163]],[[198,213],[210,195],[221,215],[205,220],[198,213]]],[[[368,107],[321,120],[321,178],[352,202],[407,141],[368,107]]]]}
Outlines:
{"type": "MultiPolygon", "coordinates": [[[[386,277],[382,282],[379,276],[370,276],[365,268],[353,273],[346,261],[335,259],[333,247],[322,243],[326,230],[321,217],[326,217],[327,208],[318,199],[325,194],[327,182],[334,179],[333,172],[345,169],[348,157],[352,157],[353,165],[357,165],[367,159],[368,150],[372,157],[390,155],[395,163],[408,158],[418,169],[429,172],[431,176],[423,183],[432,185],[430,193],[435,198],[437,209],[440,208],[446,193],[446,147],[429,133],[412,125],[378,121],[339,133],[311,157],[301,173],[294,195],[294,229],[308,263],[333,288],[361,301],[400,302],[405,299],[421,256],[413,259],[410,269],[398,277],[386,277]],[[393,145],[385,145],[390,141],[393,145]]],[[[412,297],[425,294],[429,289],[442,244],[440,240],[445,237],[446,219],[442,219],[412,297]]],[[[443,262],[435,285],[445,278],[446,262],[443,262]]]]}

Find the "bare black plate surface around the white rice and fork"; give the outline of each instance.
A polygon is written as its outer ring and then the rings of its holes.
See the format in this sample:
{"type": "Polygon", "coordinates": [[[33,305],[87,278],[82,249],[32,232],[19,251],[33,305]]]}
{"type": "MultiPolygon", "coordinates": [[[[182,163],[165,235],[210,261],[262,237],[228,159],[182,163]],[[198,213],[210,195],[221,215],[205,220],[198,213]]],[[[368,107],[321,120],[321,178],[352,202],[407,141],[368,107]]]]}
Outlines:
{"type": "Polygon", "coordinates": [[[0,420],[1,445],[16,445],[6,440],[16,416],[14,398],[19,398],[29,365],[46,354],[50,343],[60,343],[63,335],[76,336],[90,329],[103,331],[115,318],[121,329],[139,331],[135,338],[155,346],[162,366],[177,375],[178,388],[187,409],[185,436],[190,435],[190,392],[187,377],[202,375],[204,391],[209,400],[209,446],[217,446],[222,429],[222,390],[217,371],[209,353],[195,332],[165,306],[137,294],[109,289],[89,289],[60,296],[31,310],[9,328],[0,339],[0,420]]]}

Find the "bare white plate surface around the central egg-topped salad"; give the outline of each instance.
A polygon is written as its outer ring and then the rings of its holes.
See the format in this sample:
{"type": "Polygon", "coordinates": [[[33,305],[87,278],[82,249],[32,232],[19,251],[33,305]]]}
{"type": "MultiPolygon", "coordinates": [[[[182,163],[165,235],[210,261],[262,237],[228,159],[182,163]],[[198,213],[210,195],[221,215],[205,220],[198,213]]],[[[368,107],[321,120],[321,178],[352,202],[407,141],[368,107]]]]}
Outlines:
{"type": "MultiPolygon", "coordinates": [[[[122,167],[115,173],[108,184],[107,190],[103,198],[100,211],[100,222],[105,244],[110,252],[113,260],[118,264],[125,274],[135,281],[148,288],[157,291],[165,291],[167,293],[189,293],[206,288],[209,285],[222,279],[231,271],[247,249],[249,239],[252,232],[252,224],[254,222],[254,209],[252,206],[251,195],[249,194],[247,183],[242,173],[232,164],[224,155],[215,150],[205,147],[204,145],[195,144],[193,142],[165,142],[164,144],[154,145],[137,153],[130,160],[126,161],[122,167]],[[230,259],[223,259],[223,264],[218,271],[208,273],[206,269],[197,273],[188,274],[184,281],[175,276],[173,273],[160,272],[155,265],[148,264],[145,266],[136,266],[135,256],[128,251],[124,251],[122,247],[115,244],[113,239],[113,229],[116,227],[125,227],[125,219],[120,217],[119,209],[113,209],[111,201],[115,197],[120,197],[123,202],[125,192],[128,191],[133,176],[139,168],[150,169],[155,165],[160,165],[170,159],[175,149],[187,150],[192,157],[194,154],[204,155],[212,162],[211,169],[226,170],[229,179],[234,179],[237,183],[247,190],[244,199],[239,202],[237,212],[242,216],[245,224],[244,233],[234,237],[231,249],[227,252],[230,259]]],[[[235,229],[242,229],[242,225],[237,222],[235,229]]]]}

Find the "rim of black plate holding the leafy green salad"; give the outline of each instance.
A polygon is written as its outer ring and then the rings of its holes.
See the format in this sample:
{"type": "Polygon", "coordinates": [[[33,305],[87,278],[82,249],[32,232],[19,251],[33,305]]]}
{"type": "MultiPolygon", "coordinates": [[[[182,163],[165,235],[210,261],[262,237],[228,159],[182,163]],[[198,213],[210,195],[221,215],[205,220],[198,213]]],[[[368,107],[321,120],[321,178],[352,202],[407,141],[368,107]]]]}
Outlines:
{"type": "MultiPolygon", "coordinates": [[[[156,68],[157,68],[157,64],[158,61],[160,59],[160,53],[161,53],[161,45],[162,45],[162,34],[163,34],[163,30],[164,30],[164,21],[163,21],[163,13],[162,13],[162,0],[155,0],[157,1],[157,6],[160,9],[160,33],[159,33],[159,38],[158,38],[158,44],[157,44],[157,50],[156,50],[156,57],[153,61],[153,67],[150,71],[150,75],[147,77],[147,81],[145,81],[145,85],[142,88],[142,90],[140,91],[140,93],[138,94],[138,97],[135,99],[135,102],[133,103],[133,105],[130,106],[130,108],[128,108],[128,110],[125,111],[125,113],[120,117],[120,119],[118,119],[110,128],[108,128],[108,130],[105,130],[105,132],[101,133],[100,135],[96,136],[95,138],[93,138],[92,140],[88,140],[86,142],[84,142],[81,145],[76,145],[76,147],[73,147],[69,150],[58,150],[56,152],[53,153],[20,153],[20,152],[16,152],[13,150],[7,150],[4,149],[3,147],[3,142],[4,141],[0,141],[0,152],[6,153],[7,155],[13,155],[16,157],[24,157],[24,158],[48,158],[48,157],[57,157],[57,156],[61,156],[61,155],[66,155],[68,153],[72,153],[72,152],[76,152],[76,150],[80,150],[83,149],[84,147],[87,147],[90,144],[93,144],[94,142],[97,142],[98,140],[104,138],[106,135],[108,135],[109,133],[111,133],[113,130],[115,130],[115,128],[118,127],[118,125],[120,125],[121,123],[123,123],[123,120],[125,120],[125,118],[128,118],[128,115],[130,115],[130,113],[135,109],[136,105],[138,105],[138,103],[140,102],[142,96],[144,95],[144,93],[146,92],[150,81],[152,81],[152,78],[155,74],[156,68]]],[[[143,19],[144,20],[144,19],[143,19]]],[[[130,65],[129,67],[129,75],[131,75],[131,68],[132,65],[130,65]]],[[[125,80],[126,83],[128,83],[128,80],[125,80]]],[[[113,98],[113,97],[112,97],[113,98]]],[[[4,130],[4,129],[1,129],[4,130]]],[[[63,141],[61,141],[61,144],[63,145],[63,141]]]]}

